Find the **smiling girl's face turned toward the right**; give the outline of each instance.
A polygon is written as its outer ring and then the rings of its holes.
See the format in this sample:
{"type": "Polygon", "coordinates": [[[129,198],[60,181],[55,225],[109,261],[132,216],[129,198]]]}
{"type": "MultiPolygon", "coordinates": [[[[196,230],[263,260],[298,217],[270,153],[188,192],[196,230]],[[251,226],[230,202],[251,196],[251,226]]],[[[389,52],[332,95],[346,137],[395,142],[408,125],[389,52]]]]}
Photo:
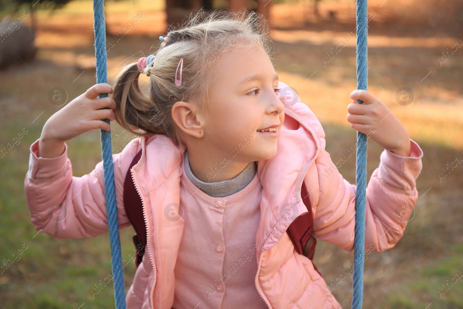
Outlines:
{"type": "Polygon", "coordinates": [[[206,105],[205,138],[231,160],[253,162],[272,158],[284,120],[278,75],[260,47],[236,49],[215,63],[206,105]],[[257,130],[273,127],[275,132],[257,130]],[[233,153],[231,155],[230,153],[233,153]]]}

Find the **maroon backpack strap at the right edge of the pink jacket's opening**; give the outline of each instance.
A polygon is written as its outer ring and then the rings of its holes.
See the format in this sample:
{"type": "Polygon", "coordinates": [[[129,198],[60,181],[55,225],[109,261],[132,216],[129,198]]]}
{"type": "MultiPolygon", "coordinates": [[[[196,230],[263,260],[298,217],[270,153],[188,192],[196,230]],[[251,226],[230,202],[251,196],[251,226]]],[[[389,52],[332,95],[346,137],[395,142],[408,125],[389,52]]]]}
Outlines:
{"type": "MultiPolygon", "coordinates": [[[[317,240],[312,235],[312,206],[310,204],[309,194],[307,193],[307,188],[304,181],[302,182],[300,195],[304,205],[306,205],[309,212],[307,214],[298,216],[293,222],[291,222],[286,232],[288,233],[289,238],[293,241],[294,249],[296,249],[299,254],[307,256],[307,258],[309,258],[313,264],[313,255],[315,253],[315,245],[317,244],[317,240]]],[[[318,271],[321,276],[321,273],[315,265],[313,265],[313,268],[318,271]]]]}

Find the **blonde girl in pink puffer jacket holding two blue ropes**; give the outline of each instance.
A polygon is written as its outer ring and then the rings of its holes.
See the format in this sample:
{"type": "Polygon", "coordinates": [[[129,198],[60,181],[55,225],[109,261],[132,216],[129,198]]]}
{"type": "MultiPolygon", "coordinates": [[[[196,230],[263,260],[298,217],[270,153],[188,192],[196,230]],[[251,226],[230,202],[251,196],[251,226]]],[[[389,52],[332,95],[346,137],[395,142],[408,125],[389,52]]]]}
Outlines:
{"type": "MultiPolygon", "coordinates": [[[[130,173],[147,234],[127,308],[339,309],[287,229],[311,211],[313,236],[353,252],[356,186],[325,151],[319,120],[278,80],[262,15],[202,14],[113,86],[92,86],[47,120],[25,178],[31,221],[56,239],[108,231],[103,163],[73,177],[65,141],[116,120],[138,135],[113,155],[119,228],[131,225],[124,179],[142,151],[130,173]],[[150,76],[148,97],[140,73],[150,76]]],[[[381,252],[403,235],[423,152],[382,101],[365,90],[350,99],[352,128],[385,149],[366,191],[365,248],[381,252]]]]}

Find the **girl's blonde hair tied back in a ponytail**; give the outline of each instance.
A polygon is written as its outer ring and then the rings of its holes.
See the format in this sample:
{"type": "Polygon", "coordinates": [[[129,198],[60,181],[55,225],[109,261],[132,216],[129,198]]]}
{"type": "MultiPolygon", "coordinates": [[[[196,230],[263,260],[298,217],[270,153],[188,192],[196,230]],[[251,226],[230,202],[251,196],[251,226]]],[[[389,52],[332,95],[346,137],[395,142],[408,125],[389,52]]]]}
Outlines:
{"type": "MultiPolygon", "coordinates": [[[[179,128],[172,119],[172,107],[177,101],[199,99],[205,113],[205,103],[213,81],[216,59],[238,46],[260,46],[269,55],[269,28],[263,15],[256,12],[200,11],[179,29],[170,30],[153,53],[155,59],[144,73],[150,76],[149,97],[138,84],[137,62],[125,65],[113,80],[113,100],[116,101],[117,123],[135,136],[163,134],[176,145],[184,147],[179,128]],[[238,41],[245,42],[244,44],[238,41]],[[175,85],[175,70],[183,58],[181,86],[175,85]],[[200,99],[201,98],[201,99],[200,99]]],[[[138,60],[138,59],[137,59],[138,60]]],[[[180,68],[177,76],[180,74],[180,68]]],[[[183,152],[183,151],[182,151],[183,152]]]]}

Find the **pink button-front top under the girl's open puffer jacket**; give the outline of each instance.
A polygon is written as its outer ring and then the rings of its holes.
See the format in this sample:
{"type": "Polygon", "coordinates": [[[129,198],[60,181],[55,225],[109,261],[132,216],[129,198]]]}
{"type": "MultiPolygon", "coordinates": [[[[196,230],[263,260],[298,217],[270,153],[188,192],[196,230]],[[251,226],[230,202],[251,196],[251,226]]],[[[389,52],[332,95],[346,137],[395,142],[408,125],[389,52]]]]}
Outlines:
{"type": "Polygon", "coordinates": [[[185,227],[175,262],[173,307],[267,308],[254,284],[262,196],[257,173],[244,189],[213,197],[190,181],[185,165],[180,181],[185,227]]]}

